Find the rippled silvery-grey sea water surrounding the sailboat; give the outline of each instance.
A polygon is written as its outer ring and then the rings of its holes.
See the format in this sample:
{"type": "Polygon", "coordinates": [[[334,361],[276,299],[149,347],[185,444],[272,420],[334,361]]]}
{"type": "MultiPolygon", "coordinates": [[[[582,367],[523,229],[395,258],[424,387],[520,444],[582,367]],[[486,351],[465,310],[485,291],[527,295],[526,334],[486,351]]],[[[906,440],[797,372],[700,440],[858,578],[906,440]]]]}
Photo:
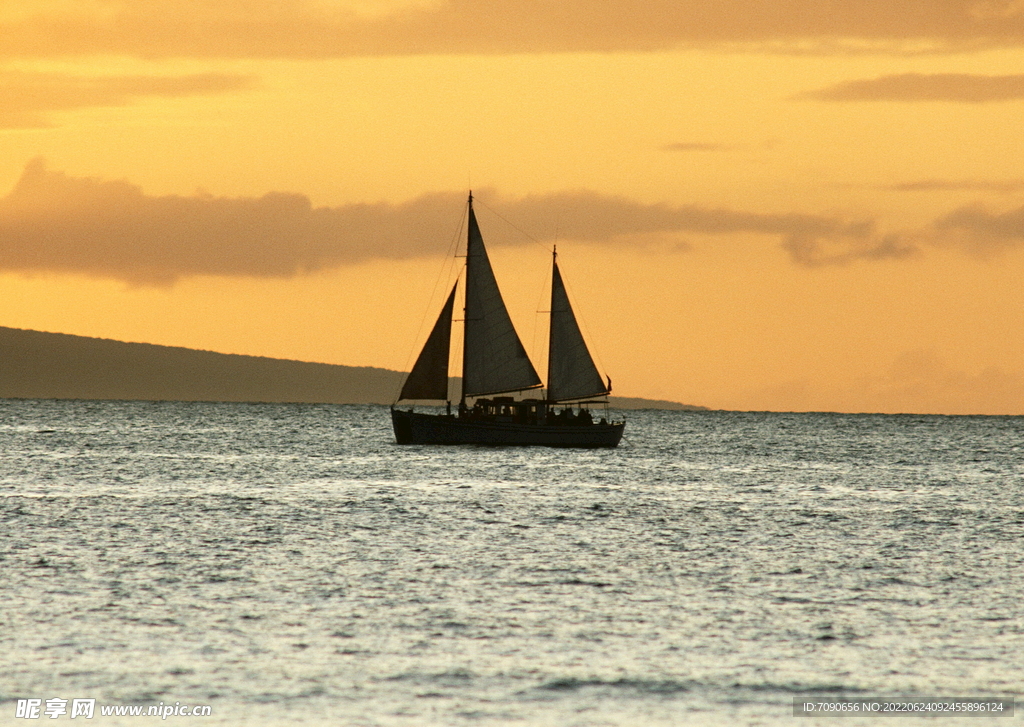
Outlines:
{"type": "Polygon", "coordinates": [[[1024,691],[1024,419],[627,417],[559,451],[0,401],[0,724],[977,725],[794,703],[1024,691]]]}

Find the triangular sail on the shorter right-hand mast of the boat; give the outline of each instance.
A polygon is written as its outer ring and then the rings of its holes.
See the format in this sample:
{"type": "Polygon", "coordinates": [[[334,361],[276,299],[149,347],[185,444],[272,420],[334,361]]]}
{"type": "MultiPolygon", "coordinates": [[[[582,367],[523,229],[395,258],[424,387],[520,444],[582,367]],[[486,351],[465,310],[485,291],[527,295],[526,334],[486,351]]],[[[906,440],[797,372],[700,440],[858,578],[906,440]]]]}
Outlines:
{"type": "Polygon", "coordinates": [[[594,365],[565,293],[558,261],[551,273],[551,333],[548,398],[552,401],[603,396],[610,391],[594,365]]]}

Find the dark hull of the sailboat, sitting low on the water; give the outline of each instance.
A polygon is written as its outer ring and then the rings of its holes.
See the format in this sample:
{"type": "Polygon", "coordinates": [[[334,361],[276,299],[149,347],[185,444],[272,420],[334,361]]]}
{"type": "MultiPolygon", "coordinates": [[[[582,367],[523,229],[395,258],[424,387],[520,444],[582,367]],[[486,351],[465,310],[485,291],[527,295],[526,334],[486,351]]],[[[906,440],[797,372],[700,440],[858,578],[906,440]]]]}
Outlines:
{"type": "Polygon", "coordinates": [[[519,424],[443,414],[391,410],[399,444],[483,444],[486,446],[612,447],[623,438],[625,422],[615,424],[519,424]]]}

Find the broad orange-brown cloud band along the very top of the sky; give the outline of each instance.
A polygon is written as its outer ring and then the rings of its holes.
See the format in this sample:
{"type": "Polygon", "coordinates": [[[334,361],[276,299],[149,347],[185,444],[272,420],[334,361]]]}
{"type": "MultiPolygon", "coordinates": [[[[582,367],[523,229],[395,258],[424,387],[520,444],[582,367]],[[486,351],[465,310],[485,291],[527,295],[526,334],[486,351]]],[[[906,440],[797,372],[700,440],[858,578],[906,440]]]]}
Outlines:
{"type": "Polygon", "coordinates": [[[343,57],[419,53],[1019,47],[1019,0],[437,0],[358,14],[316,0],[35,0],[0,23],[7,57],[343,57]]]}

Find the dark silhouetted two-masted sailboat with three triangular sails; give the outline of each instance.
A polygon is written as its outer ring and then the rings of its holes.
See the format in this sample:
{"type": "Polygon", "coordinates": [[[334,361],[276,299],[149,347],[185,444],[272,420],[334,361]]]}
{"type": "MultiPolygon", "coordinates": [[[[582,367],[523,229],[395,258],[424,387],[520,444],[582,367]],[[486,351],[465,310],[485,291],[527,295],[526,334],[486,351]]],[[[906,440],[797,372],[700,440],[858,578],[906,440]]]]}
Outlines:
{"type": "Polygon", "coordinates": [[[611,379],[604,379],[587,348],[561,272],[552,256],[551,327],[548,386],[542,389],[495,280],[483,237],[469,195],[466,244],[465,320],[462,392],[457,412],[449,399],[452,318],[458,281],[437,323],[413,365],[391,423],[399,444],[485,444],[611,447],[623,437],[625,422],[594,420],[589,405],[606,403],[611,379]],[[519,397],[511,394],[518,393],[519,397]],[[445,401],[444,414],[398,409],[403,400],[445,401]],[[573,411],[572,404],[578,411],[573,411]]]}

